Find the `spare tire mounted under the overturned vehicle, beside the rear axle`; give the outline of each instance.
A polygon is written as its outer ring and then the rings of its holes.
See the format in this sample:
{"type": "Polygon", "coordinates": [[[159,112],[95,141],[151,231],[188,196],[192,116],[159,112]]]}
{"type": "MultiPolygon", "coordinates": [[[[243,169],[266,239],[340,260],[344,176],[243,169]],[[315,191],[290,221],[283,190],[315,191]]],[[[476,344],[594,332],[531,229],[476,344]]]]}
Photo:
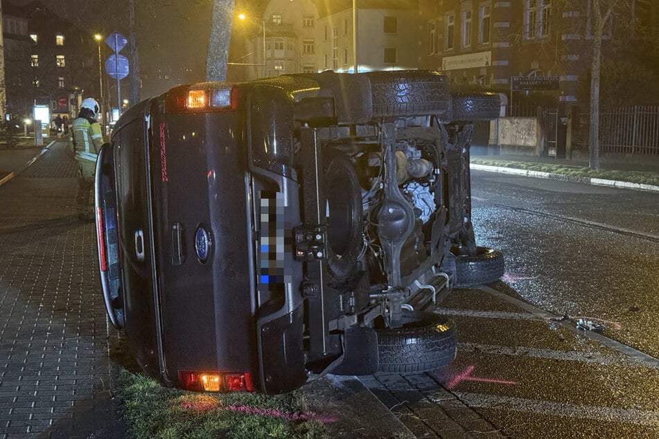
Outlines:
{"type": "Polygon", "coordinates": [[[328,273],[335,282],[351,277],[364,245],[362,188],[346,154],[329,150],[324,156],[328,273]]]}

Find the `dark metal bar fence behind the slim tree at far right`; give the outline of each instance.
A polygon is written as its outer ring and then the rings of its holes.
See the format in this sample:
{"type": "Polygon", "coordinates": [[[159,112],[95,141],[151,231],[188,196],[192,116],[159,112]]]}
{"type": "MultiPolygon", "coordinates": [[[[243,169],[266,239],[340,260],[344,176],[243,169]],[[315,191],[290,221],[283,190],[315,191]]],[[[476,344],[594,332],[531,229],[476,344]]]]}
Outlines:
{"type": "MultiPolygon", "coordinates": [[[[574,149],[588,150],[590,114],[579,115],[574,149]]],[[[604,108],[599,114],[599,150],[659,156],[659,107],[604,108]]]]}

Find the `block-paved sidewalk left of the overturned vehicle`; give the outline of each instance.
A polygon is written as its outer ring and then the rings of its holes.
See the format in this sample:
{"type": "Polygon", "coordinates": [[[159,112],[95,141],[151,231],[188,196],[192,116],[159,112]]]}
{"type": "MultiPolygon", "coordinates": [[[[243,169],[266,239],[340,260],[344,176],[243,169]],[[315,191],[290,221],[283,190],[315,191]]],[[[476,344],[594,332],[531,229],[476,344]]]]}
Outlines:
{"type": "Polygon", "coordinates": [[[0,437],[123,437],[109,395],[94,225],[55,143],[0,187],[0,437]]]}

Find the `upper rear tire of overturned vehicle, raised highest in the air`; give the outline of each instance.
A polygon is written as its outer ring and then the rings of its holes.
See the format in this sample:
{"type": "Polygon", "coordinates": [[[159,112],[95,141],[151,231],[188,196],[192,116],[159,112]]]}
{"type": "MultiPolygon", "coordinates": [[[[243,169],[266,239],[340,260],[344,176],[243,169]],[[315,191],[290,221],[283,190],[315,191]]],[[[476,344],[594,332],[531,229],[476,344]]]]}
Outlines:
{"type": "Polygon", "coordinates": [[[450,91],[439,72],[374,71],[366,75],[371,81],[374,118],[441,116],[450,111],[450,91]]]}

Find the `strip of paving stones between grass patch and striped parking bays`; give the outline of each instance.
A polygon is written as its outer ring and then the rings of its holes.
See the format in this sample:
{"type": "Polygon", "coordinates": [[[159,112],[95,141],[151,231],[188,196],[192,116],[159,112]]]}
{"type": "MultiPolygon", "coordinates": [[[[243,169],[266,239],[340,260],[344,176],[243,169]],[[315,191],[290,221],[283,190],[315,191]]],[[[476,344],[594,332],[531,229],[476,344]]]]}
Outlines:
{"type": "Polygon", "coordinates": [[[492,424],[441,387],[432,373],[359,377],[417,438],[502,438],[492,424]]]}

